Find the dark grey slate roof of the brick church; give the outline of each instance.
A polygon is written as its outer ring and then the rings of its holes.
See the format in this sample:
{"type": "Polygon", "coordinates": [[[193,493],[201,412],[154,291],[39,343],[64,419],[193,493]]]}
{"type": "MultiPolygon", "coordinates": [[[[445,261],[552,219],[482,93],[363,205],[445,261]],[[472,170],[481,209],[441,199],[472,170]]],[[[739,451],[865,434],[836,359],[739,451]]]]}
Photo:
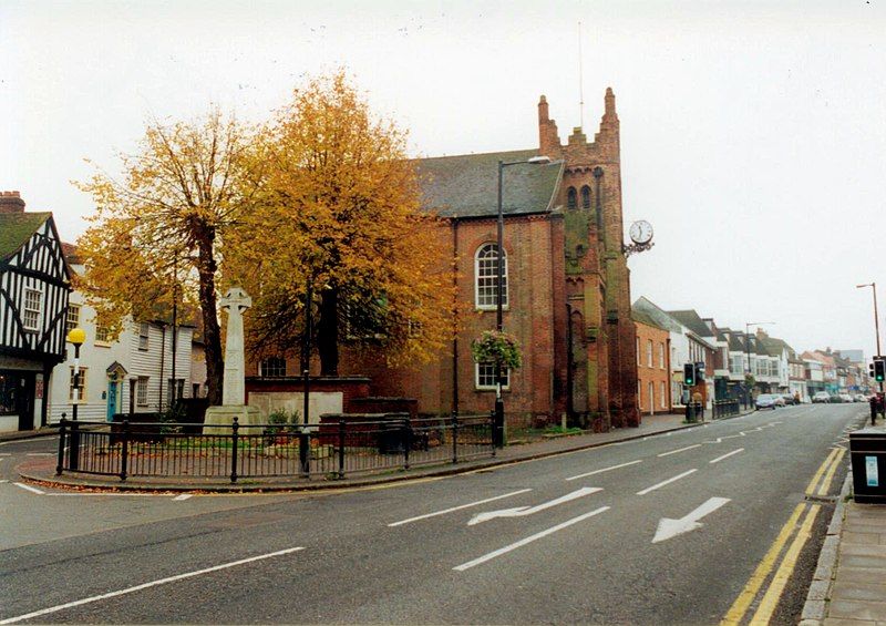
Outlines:
{"type": "MultiPolygon", "coordinates": [[[[462,154],[416,160],[422,205],[443,217],[485,217],[498,213],[498,161],[524,161],[537,150],[462,154]]],[[[555,208],[563,161],[505,167],[502,213],[526,215],[555,208]]]]}

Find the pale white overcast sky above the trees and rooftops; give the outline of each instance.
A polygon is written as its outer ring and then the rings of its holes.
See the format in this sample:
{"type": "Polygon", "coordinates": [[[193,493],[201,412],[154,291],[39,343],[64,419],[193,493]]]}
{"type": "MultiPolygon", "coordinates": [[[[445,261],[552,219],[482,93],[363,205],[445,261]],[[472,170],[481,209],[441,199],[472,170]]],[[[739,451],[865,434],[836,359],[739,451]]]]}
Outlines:
{"type": "Polygon", "coordinates": [[[632,299],[870,356],[885,48],[884,0],[0,0],[0,188],[73,242],[91,202],[70,181],[113,172],[148,116],[261,121],[344,66],[415,155],[530,148],[540,94],[563,141],[581,123],[583,74],[589,137],[616,93],[626,230],[655,227],[632,299]]]}

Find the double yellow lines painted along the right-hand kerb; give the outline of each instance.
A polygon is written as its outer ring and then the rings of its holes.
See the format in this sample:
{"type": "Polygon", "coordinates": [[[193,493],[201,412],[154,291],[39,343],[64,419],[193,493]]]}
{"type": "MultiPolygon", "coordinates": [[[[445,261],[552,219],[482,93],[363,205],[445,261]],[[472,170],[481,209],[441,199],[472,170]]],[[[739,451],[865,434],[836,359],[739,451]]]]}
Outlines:
{"type": "MultiPolygon", "coordinates": [[[[826,495],[831,483],[834,480],[834,473],[839,466],[839,462],[846,454],[846,450],[835,448],[831,451],[824,462],[821,464],[815,475],[812,476],[808,486],[806,486],[806,495],[826,495]],[[816,486],[818,488],[816,491],[816,486]]],[[[820,504],[808,504],[801,502],[794,509],[794,512],[789,517],[787,522],[782,526],[775,542],[766,552],[763,561],[756,566],[748,584],[735,598],[732,607],[727,613],[725,617],[720,622],[721,626],[738,626],[739,624],[763,625],[769,624],[772,619],[775,608],[779,606],[779,601],[784,593],[784,587],[796,567],[797,558],[803,550],[803,546],[812,535],[812,526],[815,519],[821,511],[820,504]],[[792,541],[793,538],[793,541],[792,541]],[[790,546],[785,550],[787,542],[790,546]],[[781,558],[781,564],[779,564],[781,558]],[[777,569],[775,566],[777,565],[777,569]],[[775,572],[773,574],[773,571],[775,572]],[[760,595],[763,584],[769,581],[769,587],[763,593],[763,597],[756,605],[756,609],[751,613],[754,599],[760,595]],[[748,618],[750,615],[750,619],[748,618]]]]}

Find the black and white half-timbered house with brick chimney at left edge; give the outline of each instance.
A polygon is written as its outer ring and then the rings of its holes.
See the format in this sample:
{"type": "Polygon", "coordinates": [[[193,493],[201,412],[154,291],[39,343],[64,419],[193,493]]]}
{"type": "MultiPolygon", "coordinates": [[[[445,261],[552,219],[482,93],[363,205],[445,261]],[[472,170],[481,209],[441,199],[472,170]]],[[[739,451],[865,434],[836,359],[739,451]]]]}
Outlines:
{"type": "Polygon", "coordinates": [[[0,192],[0,431],[47,424],[70,291],[52,214],[25,213],[19,192],[0,192]]]}

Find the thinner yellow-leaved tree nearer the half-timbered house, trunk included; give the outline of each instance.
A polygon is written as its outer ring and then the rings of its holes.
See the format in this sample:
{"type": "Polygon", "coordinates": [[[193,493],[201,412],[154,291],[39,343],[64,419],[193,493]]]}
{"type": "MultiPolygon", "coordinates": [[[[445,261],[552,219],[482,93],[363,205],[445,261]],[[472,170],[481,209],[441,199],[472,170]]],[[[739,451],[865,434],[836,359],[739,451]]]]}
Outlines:
{"type": "Polygon", "coordinates": [[[147,124],[135,154],[121,154],[123,175],[96,173],[79,186],[96,213],[79,239],[85,274],[78,279],[103,324],[124,316],[155,319],[173,286],[198,304],[208,399],[222,403],[223,355],[216,283],[220,243],[248,211],[260,176],[251,135],[213,110],[193,122],[147,124]]]}

